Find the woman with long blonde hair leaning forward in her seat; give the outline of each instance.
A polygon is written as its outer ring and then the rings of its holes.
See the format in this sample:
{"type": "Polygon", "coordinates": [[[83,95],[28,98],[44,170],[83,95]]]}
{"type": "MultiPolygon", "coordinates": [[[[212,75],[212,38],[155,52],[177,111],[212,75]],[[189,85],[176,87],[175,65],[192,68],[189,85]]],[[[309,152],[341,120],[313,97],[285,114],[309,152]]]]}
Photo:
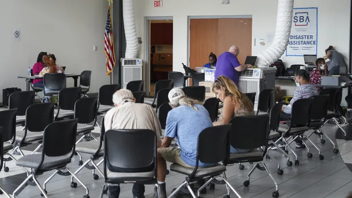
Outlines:
{"type": "MultiPolygon", "coordinates": [[[[252,102],[236,87],[231,79],[219,76],[213,84],[213,92],[223,102],[220,120],[214,122],[214,126],[228,124],[236,116],[254,115],[252,102]]],[[[230,152],[232,154],[248,153],[249,150],[231,147],[230,152]]]]}

